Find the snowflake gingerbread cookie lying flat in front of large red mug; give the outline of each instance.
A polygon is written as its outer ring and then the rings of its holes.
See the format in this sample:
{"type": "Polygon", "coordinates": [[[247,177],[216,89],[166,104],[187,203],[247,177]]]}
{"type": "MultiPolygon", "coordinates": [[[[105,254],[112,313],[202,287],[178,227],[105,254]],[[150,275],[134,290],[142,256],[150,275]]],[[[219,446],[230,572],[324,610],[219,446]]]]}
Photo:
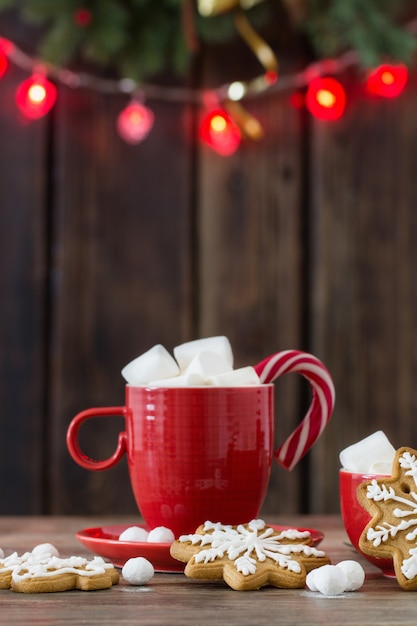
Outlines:
{"type": "Polygon", "coordinates": [[[187,563],[186,576],[223,578],[237,591],[265,585],[301,588],[309,571],[330,563],[312,543],[308,531],[279,531],[259,519],[238,526],[207,521],[194,535],[174,541],[171,555],[187,563]]]}

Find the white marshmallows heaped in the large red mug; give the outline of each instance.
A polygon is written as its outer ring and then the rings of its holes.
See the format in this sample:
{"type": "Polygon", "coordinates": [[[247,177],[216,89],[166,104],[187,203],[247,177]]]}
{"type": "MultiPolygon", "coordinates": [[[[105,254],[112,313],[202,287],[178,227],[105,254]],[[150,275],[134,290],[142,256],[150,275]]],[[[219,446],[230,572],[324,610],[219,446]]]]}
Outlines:
{"type": "Polygon", "coordinates": [[[129,385],[152,387],[260,384],[253,367],[233,369],[233,352],[227,337],[188,341],[176,346],[173,352],[174,356],[157,344],[125,365],[122,376],[129,385]]]}

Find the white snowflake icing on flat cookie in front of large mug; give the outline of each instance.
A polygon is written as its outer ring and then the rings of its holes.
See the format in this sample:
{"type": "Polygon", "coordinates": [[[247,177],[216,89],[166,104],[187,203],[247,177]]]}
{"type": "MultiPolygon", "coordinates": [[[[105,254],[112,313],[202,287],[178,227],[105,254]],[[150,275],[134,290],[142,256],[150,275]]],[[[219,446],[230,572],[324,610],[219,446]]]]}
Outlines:
{"type": "Polygon", "coordinates": [[[281,543],[284,539],[292,541],[306,539],[310,536],[308,531],[287,529],[274,534],[274,529],[266,527],[265,522],[259,519],[252,520],[247,526],[241,524],[233,528],[219,522],[206,522],[204,524],[206,534],[182,535],[179,541],[210,546],[194,555],[196,563],[209,563],[216,558],[223,558],[226,554],[234,562],[237,571],[244,576],[254,574],[257,562],[262,563],[266,558],[275,561],[279,567],[299,574],[301,565],[292,559],[291,555],[325,556],[324,552],[302,543],[281,543]]]}

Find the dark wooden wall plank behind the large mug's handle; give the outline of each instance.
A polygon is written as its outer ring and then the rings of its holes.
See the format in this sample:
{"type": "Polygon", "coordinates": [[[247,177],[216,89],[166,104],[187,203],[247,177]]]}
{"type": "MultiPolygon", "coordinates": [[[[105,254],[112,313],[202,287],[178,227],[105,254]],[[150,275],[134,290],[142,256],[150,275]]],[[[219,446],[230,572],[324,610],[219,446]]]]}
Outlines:
{"type": "MultiPolygon", "coordinates": [[[[191,332],[190,158],[177,124],[187,112],[155,104],[152,143],[133,147],[109,124],[123,104],[61,94],[49,415],[55,512],[136,508],[126,463],[104,474],[75,467],[66,429],[88,406],[123,404],[128,361],[191,332]]],[[[83,429],[86,452],[106,458],[123,429],[120,419],[83,429]]]]}

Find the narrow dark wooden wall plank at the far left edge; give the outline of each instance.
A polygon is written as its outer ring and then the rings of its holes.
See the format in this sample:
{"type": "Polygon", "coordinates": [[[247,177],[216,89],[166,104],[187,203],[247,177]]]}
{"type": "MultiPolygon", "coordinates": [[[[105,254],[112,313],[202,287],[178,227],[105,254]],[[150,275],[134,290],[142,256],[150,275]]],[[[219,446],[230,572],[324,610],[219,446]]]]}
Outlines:
{"type": "Polygon", "coordinates": [[[43,502],[48,120],[29,125],[2,79],[0,107],[0,511],[39,513],[43,502]],[[35,445],[33,445],[35,443],[35,445]]]}

